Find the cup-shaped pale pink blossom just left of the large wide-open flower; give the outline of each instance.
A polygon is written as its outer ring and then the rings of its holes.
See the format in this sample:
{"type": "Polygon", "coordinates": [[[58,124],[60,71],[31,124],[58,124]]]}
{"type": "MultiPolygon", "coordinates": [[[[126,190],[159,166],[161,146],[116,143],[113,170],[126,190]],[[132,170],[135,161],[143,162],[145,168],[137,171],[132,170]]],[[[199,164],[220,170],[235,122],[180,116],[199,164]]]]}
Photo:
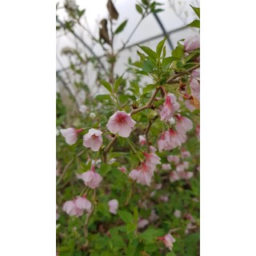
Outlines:
{"type": "Polygon", "coordinates": [[[102,146],[102,131],[94,128],[90,129],[83,136],[83,146],[89,147],[93,151],[98,151],[102,146]]]}

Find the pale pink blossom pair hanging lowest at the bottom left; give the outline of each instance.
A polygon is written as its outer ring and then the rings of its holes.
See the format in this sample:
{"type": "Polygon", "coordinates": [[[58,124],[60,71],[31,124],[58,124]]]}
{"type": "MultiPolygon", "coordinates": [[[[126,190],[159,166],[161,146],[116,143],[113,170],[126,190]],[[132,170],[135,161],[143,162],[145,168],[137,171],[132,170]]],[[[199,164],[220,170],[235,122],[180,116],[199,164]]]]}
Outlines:
{"type": "Polygon", "coordinates": [[[66,201],[62,206],[62,210],[69,214],[70,216],[82,216],[84,211],[90,213],[91,210],[91,202],[86,199],[86,195],[83,197],[77,197],[72,201],[66,201]]]}

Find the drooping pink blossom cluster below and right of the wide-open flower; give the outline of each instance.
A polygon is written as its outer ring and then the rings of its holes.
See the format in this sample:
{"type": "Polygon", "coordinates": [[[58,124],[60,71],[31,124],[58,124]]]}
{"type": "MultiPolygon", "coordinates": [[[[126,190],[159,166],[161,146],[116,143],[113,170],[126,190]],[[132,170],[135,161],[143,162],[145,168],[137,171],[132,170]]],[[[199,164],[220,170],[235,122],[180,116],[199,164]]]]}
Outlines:
{"type": "Polygon", "coordinates": [[[150,186],[151,179],[154,176],[156,166],[161,164],[160,158],[154,153],[143,153],[145,161],[137,169],[131,170],[129,177],[137,183],[150,186]]]}

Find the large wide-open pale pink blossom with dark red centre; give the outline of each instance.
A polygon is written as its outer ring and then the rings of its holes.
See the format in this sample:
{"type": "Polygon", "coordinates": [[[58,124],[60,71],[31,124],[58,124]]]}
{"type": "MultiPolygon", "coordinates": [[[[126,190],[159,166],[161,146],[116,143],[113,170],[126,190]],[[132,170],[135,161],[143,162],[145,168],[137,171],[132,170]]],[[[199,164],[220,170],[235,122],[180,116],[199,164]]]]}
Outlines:
{"type": "Polygon", "coordinates": [[[123,138],[128,138],[135,124],[136,122],[126,111],[117,111],[110,117],[106,127],[112,134],[118,134],[123,138]]]}

